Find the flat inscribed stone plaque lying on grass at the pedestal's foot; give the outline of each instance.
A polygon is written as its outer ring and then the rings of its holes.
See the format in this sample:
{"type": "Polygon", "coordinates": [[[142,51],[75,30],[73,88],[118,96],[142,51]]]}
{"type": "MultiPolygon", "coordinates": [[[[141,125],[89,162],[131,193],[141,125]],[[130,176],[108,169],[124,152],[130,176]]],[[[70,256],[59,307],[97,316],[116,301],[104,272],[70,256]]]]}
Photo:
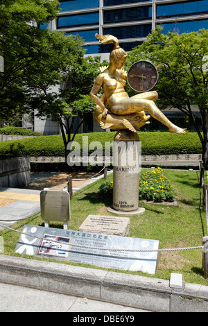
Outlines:
{"type": "Polygon", "coordinates": [[[125,236],[130,230],[130,219],[120,216],[89,215],[79,231],[125,236]]]}

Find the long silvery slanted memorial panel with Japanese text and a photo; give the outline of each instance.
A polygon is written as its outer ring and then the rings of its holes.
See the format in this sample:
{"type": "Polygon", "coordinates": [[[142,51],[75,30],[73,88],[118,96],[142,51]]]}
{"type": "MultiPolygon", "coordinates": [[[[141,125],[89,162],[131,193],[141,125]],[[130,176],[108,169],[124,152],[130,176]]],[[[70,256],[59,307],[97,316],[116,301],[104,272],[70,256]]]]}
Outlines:
{"type": "Polygon", "coordinates": [[[150,274],[154,274],[156,270],[158,240],[44,228],[36,225],[24,225],[22,232],[24,234],[20,235],[15,248],[15,252],[20,254],[53,256],[55,259],[150,274]]]}

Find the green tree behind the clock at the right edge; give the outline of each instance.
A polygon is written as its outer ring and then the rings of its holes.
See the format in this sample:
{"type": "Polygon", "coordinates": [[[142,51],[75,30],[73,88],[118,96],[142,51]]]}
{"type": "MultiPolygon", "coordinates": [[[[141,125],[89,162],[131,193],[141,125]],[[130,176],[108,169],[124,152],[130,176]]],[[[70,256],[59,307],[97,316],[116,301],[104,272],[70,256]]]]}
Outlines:
{"type": "Polygon", "coordinates": [[[148,40],[130,51],[126,63],[130,67],[136,61],[150,60],[161,65],[155,88],[159,94],[157,105],[161,109],[177,108],[190,117],[202,144],[202,161],[207,165],[208,31],[203,28],[198,32],[164,35],[162,29],[157,26],[148,40]],[[200,111],[200,124],[193,104],[200,111]]]}

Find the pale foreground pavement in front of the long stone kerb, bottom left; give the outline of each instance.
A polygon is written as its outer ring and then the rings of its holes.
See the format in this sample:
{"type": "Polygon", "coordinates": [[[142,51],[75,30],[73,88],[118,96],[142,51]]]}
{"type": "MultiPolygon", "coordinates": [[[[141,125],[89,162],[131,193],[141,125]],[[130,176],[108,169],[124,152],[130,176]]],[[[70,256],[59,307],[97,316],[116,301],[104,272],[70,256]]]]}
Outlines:
{"type": "MultiPolygon", "coordinates": [[[[40,291],[1,282],[0,293],[0,312],[76,312],[80,316],[85,316],[83,313],[86,312],[105,312],[108,313],[105,314],[105,322],[108,320],[107,316],[109,316],[109,313],[115,314],[120,312],[128,316],[129,314],[127,315],[127,313],[150,312],[122,306],[121,304],[78,298],[73,295],[40,291]]],[[[74,316],[78,315],[76,314],[74,316]]],[[[92,316],[96,318],[96,314],[92,314],[92,316]]],[[[97,322],[99,318],[102,318],[102,316],[97,316],[97,322]]],[[[132,316],[132,318],[134,317],[132,316]]]]}

